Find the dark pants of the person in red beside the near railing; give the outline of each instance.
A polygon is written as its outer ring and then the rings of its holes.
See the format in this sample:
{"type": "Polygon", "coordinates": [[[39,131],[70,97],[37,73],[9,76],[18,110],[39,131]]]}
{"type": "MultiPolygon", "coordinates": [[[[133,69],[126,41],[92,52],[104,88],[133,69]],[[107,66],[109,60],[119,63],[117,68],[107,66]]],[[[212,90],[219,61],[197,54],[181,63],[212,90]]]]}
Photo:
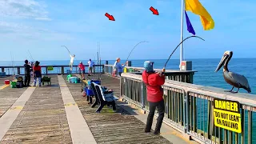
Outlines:
{"type": "Polygon", "coordinates": [[[149,102],[149,104],[150,104],[150,113],[147,116],[145,131],[151,130],[151,126],[152,126],[152,122],[153,122],[153,118],[154,118],[154,110],[157,107],[158,108],[158,122],[155,126],[154,131],[160,133],[160,128],[162,126],[162,119],[163,119],[164,113],[165,113],[165,102],[162,100],[160,102],[149,102]]]}

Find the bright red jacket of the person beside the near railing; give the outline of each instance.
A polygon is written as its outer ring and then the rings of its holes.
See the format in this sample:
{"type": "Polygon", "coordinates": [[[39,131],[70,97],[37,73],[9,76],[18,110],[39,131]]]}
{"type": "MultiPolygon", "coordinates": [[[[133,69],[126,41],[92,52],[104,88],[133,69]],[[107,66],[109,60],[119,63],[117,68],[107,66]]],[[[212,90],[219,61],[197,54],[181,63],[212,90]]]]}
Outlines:
{"type": "Polygon", "coordinates": [[[142,80],[146,84],[146,95],[148,102],[162,101],[163,90],[161,86],[165,83],[165,76],[159,74],[149,74],[146,70],[142,73],[142,80]]]}

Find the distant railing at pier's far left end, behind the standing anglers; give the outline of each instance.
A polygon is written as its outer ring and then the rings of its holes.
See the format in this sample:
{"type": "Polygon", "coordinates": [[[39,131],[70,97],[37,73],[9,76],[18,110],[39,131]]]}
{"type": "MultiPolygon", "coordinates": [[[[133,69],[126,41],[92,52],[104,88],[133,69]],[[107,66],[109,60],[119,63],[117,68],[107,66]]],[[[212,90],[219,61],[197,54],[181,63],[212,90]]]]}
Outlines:
{"type": "MultiPolygon", "coordinates": [[[[86,73],[88,73],[89,66],[86,66],[86,73]]],[[[42,74],[69,74],[70,66],[41,66],[42,74]]],[[[6,72],[6,75],[23,75],[24,66],[0,66],[2,72],[6,72]]],[[[94,65],[93,72],[104,73],[104,65],[94,65]]],[[[78,66],[73,66],[72,74],[80,73],[78,66]]]]}

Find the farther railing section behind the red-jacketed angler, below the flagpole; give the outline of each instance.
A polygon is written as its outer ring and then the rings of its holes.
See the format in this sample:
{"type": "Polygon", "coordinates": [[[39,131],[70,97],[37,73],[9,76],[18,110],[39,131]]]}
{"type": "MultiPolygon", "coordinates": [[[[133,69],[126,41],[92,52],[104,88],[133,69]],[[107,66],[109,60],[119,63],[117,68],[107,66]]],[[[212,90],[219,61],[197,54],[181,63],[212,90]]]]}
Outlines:
{"type": "MultiPolygon", "coordinates": [[[[144,70],[143,67],[134,67],[134,66],[126,66],[126,70],[124,73],[132,73],[132,74],[142,74],[144,70]]],[[[160,71],[160,69],[154,69],[156,71],[160,71]]],[[[105,65],[104,66],[105,74],[111,75],[113,72],[113,65],[105,65]]],[[[187,82],[193,83],[193,76],[196,71],[194,70],[166,70],[166,79],[178,81],[178,82],[187,82]]]]}

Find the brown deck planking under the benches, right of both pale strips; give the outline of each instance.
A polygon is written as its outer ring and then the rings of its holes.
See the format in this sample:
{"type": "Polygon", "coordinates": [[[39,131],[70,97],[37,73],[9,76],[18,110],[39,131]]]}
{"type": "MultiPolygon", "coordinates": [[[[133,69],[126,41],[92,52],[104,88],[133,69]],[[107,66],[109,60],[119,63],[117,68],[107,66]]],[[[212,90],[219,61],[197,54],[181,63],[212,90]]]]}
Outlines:
{"type": "MultiPolygon", "coordinates": [[[[66,76],[63,76],[66,79],[66,76]]],[[[98,75],[90,77],[97,79],[98,75]]],[[[144,132],[145,124],[130,115],[121,107],[117,106],[117,112],[114,113],[111,108],[105,106],[100,114],[96,114],[95,108],[91,108],[82,97],[81,84],[72,84],[66,82],[70,92],[78,104],[94,138],[98,143],[171,143],[160,135],[144,132]]],[[[102,86],[115,90],[115,95],[119,95],[119,80],[102,74],[102,86]]]]}

